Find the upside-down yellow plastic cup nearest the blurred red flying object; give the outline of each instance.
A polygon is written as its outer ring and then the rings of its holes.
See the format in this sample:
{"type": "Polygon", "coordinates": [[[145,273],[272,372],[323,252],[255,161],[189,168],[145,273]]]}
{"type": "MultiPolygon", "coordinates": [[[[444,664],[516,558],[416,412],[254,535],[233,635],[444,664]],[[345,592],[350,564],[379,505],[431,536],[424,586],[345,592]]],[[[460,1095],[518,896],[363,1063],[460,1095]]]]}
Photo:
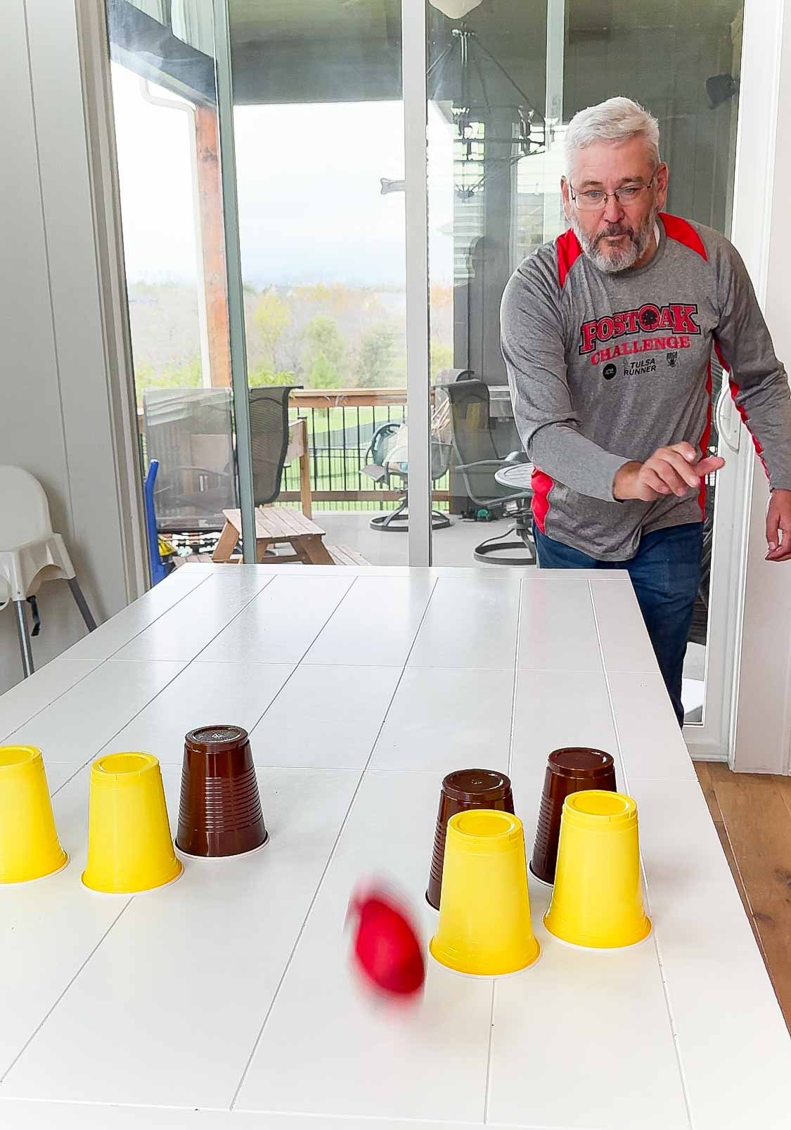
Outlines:
{"type": "Polygon", "coordinates": [[[429,949],[447,968],[488,977],[538,960],[518,816],[478,808],[447,822],[440,922],[429,949]]]}

